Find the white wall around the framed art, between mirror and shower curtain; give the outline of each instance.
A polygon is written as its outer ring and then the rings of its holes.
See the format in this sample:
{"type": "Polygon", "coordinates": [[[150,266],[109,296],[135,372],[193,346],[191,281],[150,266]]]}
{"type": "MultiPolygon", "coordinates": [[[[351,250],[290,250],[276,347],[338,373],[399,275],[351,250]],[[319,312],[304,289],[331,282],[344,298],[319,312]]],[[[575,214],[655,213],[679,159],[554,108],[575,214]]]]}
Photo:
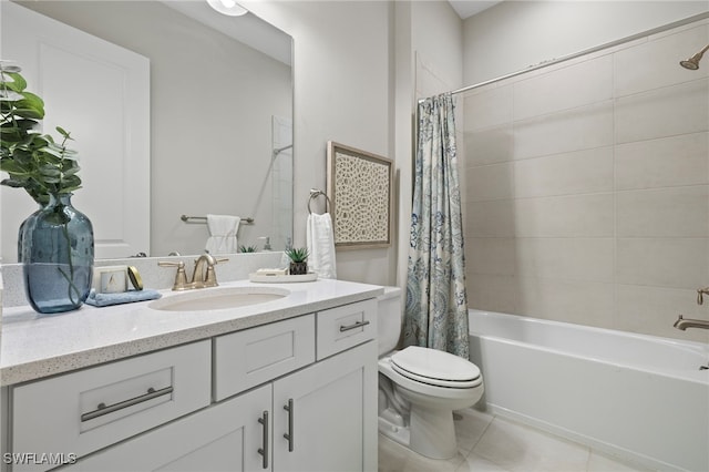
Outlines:
{"type": "Polygon", "coordinates": [[[309,188],[325,188],[327,141],[382,154],[398,172],[398,243],[338,250],[338,278],[405,284],[417,90],[462,84],[462,21],[444,1],[250,4],[295,41],[296,243],[309,188]]]}

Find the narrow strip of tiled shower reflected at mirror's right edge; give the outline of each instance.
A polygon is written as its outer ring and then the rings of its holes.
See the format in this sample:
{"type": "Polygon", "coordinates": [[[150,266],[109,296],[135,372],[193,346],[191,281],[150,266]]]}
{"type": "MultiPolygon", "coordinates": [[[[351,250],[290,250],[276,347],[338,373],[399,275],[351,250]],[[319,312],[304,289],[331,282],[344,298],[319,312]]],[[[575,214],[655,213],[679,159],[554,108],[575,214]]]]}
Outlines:
{"type": "Polygon", "coordinates": [[[292,238],[292,120],[273,116],[271,185],[274,189],[274,234],[270,245],[282,250],[292,238]]]}

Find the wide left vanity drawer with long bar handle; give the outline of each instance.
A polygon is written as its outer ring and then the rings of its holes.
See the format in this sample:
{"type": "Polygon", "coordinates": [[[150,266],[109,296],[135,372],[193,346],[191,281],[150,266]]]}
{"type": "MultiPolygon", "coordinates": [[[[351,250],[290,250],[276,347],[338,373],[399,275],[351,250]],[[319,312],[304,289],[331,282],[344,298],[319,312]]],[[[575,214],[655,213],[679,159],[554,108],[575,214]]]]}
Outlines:
{"type": "Polygon", "coordinates": [[[205,340],[14,387],[12,451],[81,458],[207,407],[210,360],[205,340]]]}

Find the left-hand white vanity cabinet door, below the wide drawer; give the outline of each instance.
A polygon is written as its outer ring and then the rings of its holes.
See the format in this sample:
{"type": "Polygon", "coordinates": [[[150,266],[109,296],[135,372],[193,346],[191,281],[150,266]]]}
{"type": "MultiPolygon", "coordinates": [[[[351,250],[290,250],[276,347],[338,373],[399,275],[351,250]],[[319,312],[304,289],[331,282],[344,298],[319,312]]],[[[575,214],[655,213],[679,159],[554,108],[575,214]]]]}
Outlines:
{"type": "Polygon", "coordinates": [[[267,384],[62,471],[269,471],[270,404],[271,386],[267,384]]]}

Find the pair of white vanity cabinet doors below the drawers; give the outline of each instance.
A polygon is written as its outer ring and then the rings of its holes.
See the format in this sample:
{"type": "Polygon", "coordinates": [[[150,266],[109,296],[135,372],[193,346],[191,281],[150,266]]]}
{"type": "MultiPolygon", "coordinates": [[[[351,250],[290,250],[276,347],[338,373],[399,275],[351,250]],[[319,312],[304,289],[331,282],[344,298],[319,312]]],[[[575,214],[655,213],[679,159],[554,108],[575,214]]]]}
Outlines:
{"type": "Polygon", "coordinates": [[[369,341],[62,471],[376,471],[376,362],[369,341]]]}

